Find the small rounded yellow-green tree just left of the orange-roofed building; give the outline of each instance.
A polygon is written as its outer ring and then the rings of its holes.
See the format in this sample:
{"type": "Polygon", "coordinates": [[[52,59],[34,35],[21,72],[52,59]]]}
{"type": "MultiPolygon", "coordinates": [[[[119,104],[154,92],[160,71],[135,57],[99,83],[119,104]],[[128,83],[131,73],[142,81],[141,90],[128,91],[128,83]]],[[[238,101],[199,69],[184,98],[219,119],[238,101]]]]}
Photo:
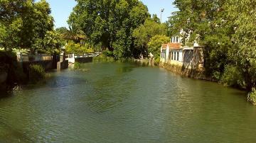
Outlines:
{"type": "Polygon", "coordinates": [[[149,41],[149,52],[154,55],[155,59],[160,60],[161,45],[170,41],[166,35],[155,35],[149,41]]]}

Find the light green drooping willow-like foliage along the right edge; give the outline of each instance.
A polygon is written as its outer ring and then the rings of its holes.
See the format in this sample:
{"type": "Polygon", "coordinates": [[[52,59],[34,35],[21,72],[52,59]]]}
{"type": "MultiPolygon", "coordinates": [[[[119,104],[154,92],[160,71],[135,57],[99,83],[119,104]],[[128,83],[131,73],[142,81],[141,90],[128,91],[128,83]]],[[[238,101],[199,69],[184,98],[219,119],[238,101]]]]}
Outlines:
{"type": "Polygon", "coordinates": [[[233,62],[240,67],[247,90],[256,86],[256,1],[228,1],[228,16],[233,20],[234,47],[229,50],[233,62]]]}

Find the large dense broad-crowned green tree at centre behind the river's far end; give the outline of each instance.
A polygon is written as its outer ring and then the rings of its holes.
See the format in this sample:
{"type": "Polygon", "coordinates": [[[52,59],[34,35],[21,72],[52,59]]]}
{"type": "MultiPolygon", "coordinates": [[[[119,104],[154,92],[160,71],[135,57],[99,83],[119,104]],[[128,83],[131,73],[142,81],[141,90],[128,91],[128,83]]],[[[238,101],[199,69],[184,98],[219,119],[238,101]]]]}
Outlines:
{"type": "Polygon", "coordinates": [[[109,48],[114,57],[137,55],[132,33],[149,17],[146,6],[138,0],[78,0],[68,23],[74,31],[82,30],[87,41],[109,48]]]}

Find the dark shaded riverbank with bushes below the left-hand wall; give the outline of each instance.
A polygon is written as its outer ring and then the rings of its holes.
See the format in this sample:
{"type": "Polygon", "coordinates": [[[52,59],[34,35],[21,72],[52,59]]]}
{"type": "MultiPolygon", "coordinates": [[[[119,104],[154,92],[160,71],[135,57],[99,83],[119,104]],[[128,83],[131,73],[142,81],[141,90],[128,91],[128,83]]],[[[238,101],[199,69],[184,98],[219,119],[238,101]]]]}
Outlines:
{"type": "Polygon", "coordinates": [[[0,91],[13,91],[24,84],[44,81],[46,71],[53,69],[52,60],[18,62],[15,52],[0,51],[0,91]]]}

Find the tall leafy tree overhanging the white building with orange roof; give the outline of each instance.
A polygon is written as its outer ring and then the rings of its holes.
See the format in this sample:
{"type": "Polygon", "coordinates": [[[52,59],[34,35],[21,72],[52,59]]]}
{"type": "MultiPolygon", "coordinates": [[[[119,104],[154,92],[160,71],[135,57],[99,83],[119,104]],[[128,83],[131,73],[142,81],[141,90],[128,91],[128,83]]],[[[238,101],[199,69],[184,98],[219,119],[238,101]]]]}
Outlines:
{"type": "Polygon", "coordinates": [[[234,33],[225,11],[226,1],[176,0],[179,11],[169,18],[169,35],[177,35],[183,30],[184,45],[198,42],[207,49],[206,73],[220,80],[228,63],[228,49],[233,43],[234,33]]]}

